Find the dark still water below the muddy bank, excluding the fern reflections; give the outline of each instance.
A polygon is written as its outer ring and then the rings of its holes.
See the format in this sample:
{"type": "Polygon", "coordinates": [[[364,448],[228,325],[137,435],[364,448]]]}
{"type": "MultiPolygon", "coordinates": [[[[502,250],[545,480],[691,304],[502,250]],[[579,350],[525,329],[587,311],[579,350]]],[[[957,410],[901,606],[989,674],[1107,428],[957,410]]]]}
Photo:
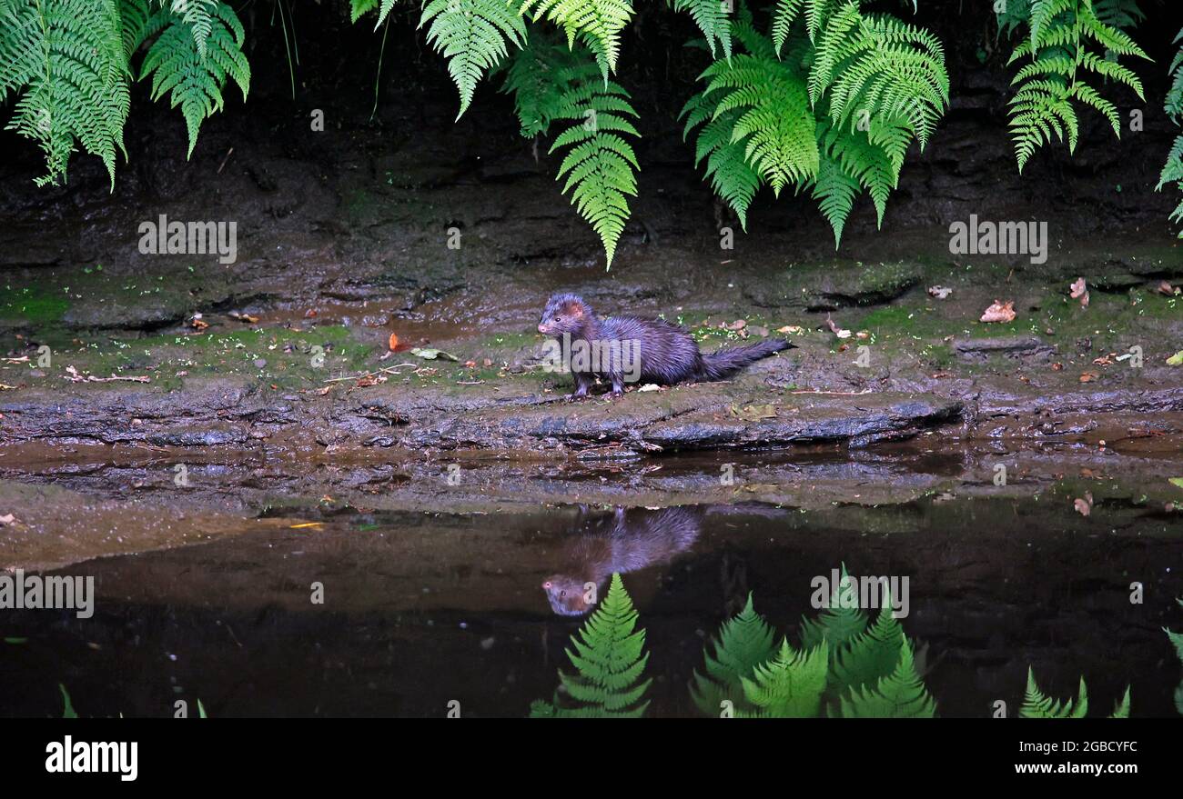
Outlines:
{"type": "Polygon", "coordinates": [[[619,569],[646,629],[651,714],[694,715],[687,680],[748,592],[795,642],[812,580],[840,563],[909,578],[903,624],[927,647],[940,715],[1017,709],[1029,665],[1058,696],[1084,676],[1091,715],[1127,683],[1133,715],[1175,714],[1162,628],[1183,628],[1179,514],[1110,500],[1084,518],[1055,488],[942,500],[345,513],[85,561],[60,573],[96,578],[93,618],[0,617],[0,636],[26,638],[0,644],[0,714],[52,715],[60,682],[83,716],[199,697],[212,716],[441,716],[453,700],[521,716],[569,668],[581,617],[556,612],[578,610],[557,591],[619,569]]]}

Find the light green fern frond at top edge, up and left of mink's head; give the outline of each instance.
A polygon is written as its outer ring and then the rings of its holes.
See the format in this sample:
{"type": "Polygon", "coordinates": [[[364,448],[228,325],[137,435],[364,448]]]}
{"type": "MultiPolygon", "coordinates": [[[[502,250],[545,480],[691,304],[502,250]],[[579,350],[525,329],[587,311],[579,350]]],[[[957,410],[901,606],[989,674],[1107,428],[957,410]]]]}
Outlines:
{"type": "Polygon", "coordinates": [[[459,119],[480,78],[508,54],[506,41],[518,47],[525,41],[525,22],[505,0],[427,0],[419,27],[428,24],[427,43],[448,59],[460,92],[459,119]]]}

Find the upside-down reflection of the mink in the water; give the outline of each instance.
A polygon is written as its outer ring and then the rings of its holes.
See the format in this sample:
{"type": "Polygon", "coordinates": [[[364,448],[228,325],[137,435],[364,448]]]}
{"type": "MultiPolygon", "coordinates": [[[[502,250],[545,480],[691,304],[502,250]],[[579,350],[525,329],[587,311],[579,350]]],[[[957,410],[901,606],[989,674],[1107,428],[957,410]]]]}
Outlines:
{"type": "Polygon", "coordinates": [[[702,507],[649,511],[625,509],[588,519],[580,514],[571,539],[563,548],[562,571],[542,584],[550,608],[560,616],[582,616],[607,590],[613,572],[631,572],[668,563],[690,550],[703,524],[702,507]],[[595,584],[593,595],[584,587],[595,584]]]}

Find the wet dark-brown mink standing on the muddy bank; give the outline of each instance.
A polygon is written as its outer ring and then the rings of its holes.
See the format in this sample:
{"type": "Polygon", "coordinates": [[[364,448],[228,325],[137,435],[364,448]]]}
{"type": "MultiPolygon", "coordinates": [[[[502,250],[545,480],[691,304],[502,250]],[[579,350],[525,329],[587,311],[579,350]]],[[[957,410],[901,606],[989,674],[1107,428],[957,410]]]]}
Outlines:
{"type": "Polygon", "coordinates": [[[563,364],[575,378],[570,398],[586,397],[596,377],[612,383],[612,394],[625,392],[626,382],[675,383],[719,381],[744,366],[796,345],[770,338],[716,352],[699,352],[698,343],[680,325],[664,319],[608,317],[597,319],[576,294],[555,294],[538,321],[538,332],[558,342],[563,364]],[[580,362],[580,353],[600,355],[580,362]]]}

